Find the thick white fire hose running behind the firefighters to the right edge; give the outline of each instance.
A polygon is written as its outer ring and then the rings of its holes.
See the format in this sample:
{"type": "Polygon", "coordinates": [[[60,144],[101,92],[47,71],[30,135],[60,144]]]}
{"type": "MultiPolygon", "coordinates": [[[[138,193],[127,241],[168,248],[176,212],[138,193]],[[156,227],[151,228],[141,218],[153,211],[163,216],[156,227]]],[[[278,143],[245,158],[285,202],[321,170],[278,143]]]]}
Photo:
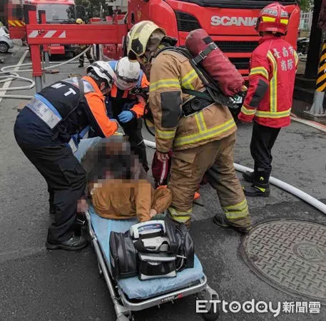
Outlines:
{"type": "MultiPolygon", "coordinates": [[[[156,148],[156,143],[153,141],[147,141],[146,139],[144,139],[144,143],[150,148],[156,148]]],[[[253,171],[252,169],[243,165],[239,165],[236,163],[234,163],[233,165],[235,167],[235,170],[238,170],[242,173],[244,173],[245,171],[253,171]]],[[[320,202],[320,200],[317,200],[316,198],[313,198],[311,195],[303,192],[299,188],[295,188],[294,186],[287,184],[282,180],[278,180],[277,178],[273,178],[272,176],[270,177],[270,183],[272,185],[277,186],[278,188],[281,188],[282,190],[285,190],[287,193],[297,196],[297,198],[304,200],[306,203],[312,205],[317,210],[320,210],[320,212],[326,214],[326,204],[320,202]]]]}

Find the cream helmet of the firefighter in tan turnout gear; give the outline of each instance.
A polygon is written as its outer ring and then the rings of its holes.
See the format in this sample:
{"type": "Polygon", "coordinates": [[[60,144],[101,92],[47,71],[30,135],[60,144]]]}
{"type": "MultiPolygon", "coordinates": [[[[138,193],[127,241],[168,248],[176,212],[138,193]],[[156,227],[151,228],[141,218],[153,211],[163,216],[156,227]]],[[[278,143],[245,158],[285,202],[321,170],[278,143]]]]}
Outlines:
{"type": "Polygon", "coordinates": [[[131,60],[145,55],[146,51],[154,51],[163,37],[166,36],[164,29],[153,21],[141,21],[135,24],[127,35],[127,54],[131,60]]]}

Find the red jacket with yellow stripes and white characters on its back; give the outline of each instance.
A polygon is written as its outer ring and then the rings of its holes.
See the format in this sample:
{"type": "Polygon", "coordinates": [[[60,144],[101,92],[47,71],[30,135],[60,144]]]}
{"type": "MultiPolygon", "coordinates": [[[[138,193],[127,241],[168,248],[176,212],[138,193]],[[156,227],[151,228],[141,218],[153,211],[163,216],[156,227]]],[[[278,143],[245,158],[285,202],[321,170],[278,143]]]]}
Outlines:
{"type": "Polygon", "coordinates": [[[263,36],[250,61],[249,88],[239,119],[281,128],[290,125],[297,53],[285,40],[263,36]]]}

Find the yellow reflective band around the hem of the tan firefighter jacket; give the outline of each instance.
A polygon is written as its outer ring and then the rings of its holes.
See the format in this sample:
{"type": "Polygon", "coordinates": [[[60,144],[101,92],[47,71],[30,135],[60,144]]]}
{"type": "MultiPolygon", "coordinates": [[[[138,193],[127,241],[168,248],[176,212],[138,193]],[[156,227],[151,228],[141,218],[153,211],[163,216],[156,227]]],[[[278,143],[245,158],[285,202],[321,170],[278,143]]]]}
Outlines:
{"type": "Polygon", "coordinates": [[[232,118],[229,121],[223,123],[222,125],[207,129],[203,133],[195,133],[192,135],[175,138],[173,146],[183,146],[190,143],[197,143],[198,141],[203,141],[204,139],[210,139],[215,136],[218,136],[220,133],[225,133],[225,131],[229,131],[233,127],[235,127],[235,121],[232,118]]]}

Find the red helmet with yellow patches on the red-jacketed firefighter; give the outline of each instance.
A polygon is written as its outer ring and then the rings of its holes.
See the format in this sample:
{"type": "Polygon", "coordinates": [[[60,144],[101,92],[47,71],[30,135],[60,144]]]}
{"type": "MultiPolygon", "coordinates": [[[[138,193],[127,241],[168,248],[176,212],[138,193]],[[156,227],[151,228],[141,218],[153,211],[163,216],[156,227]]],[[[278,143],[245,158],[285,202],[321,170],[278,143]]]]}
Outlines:
{"type": "Polygon", "coordinates": [[[274,2],[265,6],[258,16],[256,30],[286,34],[290,16],[282,4],[274,2]]]}

